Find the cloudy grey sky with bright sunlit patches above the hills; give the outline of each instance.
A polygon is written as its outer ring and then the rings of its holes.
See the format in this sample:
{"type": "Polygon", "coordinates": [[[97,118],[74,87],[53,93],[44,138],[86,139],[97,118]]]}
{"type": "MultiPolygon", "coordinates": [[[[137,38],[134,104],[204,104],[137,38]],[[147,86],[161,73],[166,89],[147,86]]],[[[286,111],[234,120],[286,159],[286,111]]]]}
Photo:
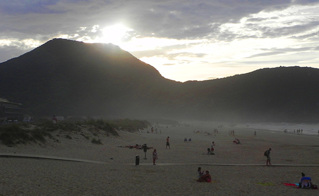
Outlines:
{"type": "Polygon", "coordinates": [[[319,0],[0,0],[0,62],[54,38],[118,45],[182,82],[319,68],[319,0]]]}

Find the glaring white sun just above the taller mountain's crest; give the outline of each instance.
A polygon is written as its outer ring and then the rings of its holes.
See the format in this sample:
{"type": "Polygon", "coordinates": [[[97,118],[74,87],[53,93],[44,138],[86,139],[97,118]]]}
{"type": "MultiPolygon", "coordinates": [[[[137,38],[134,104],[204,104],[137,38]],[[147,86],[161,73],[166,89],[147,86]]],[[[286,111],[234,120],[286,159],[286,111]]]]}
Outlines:
{"type": "Polygon", "coordinates": [[[123,26],[122,24],[107,26],[104,29],[102,29],[102,41],[104,43],[112,43],[119,45],[121,43],[122,38],[126,35],[127,32],[130,31],[133,30],[123,26]]]}

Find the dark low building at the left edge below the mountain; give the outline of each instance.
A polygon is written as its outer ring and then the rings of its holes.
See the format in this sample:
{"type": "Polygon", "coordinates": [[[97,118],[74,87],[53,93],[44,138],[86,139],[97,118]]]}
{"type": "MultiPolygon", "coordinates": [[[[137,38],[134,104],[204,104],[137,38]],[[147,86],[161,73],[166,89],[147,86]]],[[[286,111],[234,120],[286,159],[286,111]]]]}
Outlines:
{"type": "Polygon", "coordinates": [[[12,103],[7,99],[0,98],[0,123],[22,122],[23,109],[21,106],[20,103],[12,103]]]}

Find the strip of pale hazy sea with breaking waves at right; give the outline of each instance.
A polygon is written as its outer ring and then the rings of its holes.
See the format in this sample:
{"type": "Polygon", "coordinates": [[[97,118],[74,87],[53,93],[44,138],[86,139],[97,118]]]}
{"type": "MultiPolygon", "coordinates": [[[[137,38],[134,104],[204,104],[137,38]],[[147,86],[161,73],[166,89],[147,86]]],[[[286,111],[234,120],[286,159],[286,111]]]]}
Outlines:
{"type": "Polygon", "coordinates": [[[306,124],[306,123],[247,123],[237,124],[238,128],[250,129],[266,129],[271,131],[284,132],[288,134],[304,134],[304,135],[319,135],[319,124],[306,124]],[[303,130],[298,133],[297,130],[303,130]]]}

